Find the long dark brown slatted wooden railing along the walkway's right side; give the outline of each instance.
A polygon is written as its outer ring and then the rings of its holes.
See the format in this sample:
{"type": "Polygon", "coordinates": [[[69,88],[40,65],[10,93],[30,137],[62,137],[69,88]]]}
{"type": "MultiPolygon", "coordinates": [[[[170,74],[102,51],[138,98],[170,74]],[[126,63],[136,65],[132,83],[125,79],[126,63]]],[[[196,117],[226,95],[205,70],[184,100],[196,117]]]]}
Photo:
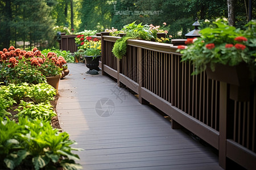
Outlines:
{"type": "Polygon", "coordinates": [[[172,119],[172,128],[184,127],[219,151],[221,167],[237,163],[256,167],[256,87],[250,100],[229,99],[229,84],[209,79],[206,73],[191,75],[193,66],[180,62],[176,46],[128,40],[121,60],[112,53],[120,37],[101,33],[102,75],[110,75],[172,119]],[[232,161],[230,161],[232,160],[232,161]]]}

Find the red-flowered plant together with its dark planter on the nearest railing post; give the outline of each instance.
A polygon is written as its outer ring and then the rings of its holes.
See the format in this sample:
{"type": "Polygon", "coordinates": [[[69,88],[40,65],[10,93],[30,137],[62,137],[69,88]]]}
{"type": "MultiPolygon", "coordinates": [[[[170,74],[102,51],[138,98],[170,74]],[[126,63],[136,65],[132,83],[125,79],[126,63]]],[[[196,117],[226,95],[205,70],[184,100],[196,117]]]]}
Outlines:
{"type": "Polygon", "coordinates": [[[246,25],[245,31],[228,25],[227,19],[217,19],[200,31],[201,37],[187,39],[188,46],[179,45],[181,61],[191,61],[192,74],[206,70],[208,78],[231,84],[230,98],[248,100],[256,73],[256,22],[246,25]],[[249,26],[250,25],[250,26],[249,26]],[[242,93],[241,93],[242,92],[242,93]],[[241,97],[240,97],[241,96],[241,97]]]}

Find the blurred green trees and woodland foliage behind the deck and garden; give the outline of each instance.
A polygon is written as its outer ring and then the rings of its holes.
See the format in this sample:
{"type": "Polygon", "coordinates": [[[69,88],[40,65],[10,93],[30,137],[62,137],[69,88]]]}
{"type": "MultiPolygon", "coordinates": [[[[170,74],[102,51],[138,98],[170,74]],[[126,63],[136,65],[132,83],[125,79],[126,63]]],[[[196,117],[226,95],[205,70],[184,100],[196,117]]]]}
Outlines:
{"type": "MultiPolygon", "coordinates": [[[[249,0],[237,0],[236,26],[247,22],[246,7],[249,0]],[[246,5],[245,5],[246,3],[246,5]]],[[[84,29],[121,29],[123,25],[137,20],[137,23],[170,25],[174,38],[184,37],[192,29],[197,17],[199,20],[213,20],[227,17],[226,0],[0,0],[0,49],[17,41],[29,42],[39,49],[58,46],[53,27],[64,26],[73,32],[84,29]],[[159,15],[115,15],[115,9],[125,11],[162,11],[159,15]],[[71,8],[73,7],[73,15],[71,8]],[[73,16],[73,20],[71,19],[73,16]],[[72,22],[73,21],[73,22],[72,22]],[[73,23],[73,25],[72,25],[73,23]]],[[[253,19],[256,18],[256,1],[253,1],[253,19]]]]}

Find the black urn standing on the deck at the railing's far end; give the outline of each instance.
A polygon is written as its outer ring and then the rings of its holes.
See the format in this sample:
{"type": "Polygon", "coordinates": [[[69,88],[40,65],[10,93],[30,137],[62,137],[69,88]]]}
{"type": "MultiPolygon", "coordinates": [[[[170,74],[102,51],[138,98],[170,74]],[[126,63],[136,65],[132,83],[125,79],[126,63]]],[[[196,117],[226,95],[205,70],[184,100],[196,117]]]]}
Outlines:
{"type": "Polygon", "coordinates": [[[100,71],[98,67],[101,56],[85,56],[85,65],[88,67],[88,71],[86,73],[89,74],[98,74],[96,71],[100,71]]]}

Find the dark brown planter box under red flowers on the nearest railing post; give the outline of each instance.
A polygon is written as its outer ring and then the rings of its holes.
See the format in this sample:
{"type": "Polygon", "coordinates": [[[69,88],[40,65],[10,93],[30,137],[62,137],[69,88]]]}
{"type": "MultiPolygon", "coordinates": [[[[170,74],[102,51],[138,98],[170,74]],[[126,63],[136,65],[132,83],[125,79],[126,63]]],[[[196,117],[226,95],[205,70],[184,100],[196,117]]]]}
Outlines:
{"type": "Polygon", "coordinates": [[[253,81],[246,63],[237,66],[217,64],[215,71],[207,66],[206,73],[209,79],[230,84],[229,98],[236,101],[250,100],[250,86],[253,81]]]}

